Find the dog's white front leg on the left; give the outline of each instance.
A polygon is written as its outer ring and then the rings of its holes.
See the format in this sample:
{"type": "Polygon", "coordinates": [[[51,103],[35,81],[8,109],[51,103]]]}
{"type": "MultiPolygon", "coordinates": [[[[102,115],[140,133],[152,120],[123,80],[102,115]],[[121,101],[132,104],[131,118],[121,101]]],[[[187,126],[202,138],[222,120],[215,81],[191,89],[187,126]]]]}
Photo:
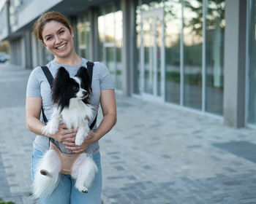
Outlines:
{"type": "Polygon", "coordinates": [[[48,124],[43,127],[42,133],[46,136],[55,134],[59,130],[59,118],[59,110],[55,108],[48,124]]]}

